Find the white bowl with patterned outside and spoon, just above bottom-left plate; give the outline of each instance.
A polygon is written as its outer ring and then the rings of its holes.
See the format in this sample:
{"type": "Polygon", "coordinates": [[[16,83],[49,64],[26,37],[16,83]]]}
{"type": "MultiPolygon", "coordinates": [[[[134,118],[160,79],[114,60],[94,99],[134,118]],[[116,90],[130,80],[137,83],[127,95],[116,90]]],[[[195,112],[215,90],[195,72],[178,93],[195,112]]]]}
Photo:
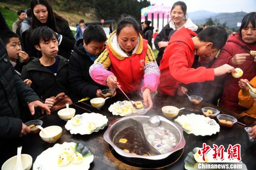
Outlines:
{"type": "Polygon", "coordinates": [[[46,136],[45,133],[42,132],[42,130],[40,131],[39,136],[45,142],[48,142],[48,143],[56,142],[62,134],[62,128],[59,126],[49,126],[49,127],[44,128],[44,131],[46,131],[48,136],[46,136]]]}

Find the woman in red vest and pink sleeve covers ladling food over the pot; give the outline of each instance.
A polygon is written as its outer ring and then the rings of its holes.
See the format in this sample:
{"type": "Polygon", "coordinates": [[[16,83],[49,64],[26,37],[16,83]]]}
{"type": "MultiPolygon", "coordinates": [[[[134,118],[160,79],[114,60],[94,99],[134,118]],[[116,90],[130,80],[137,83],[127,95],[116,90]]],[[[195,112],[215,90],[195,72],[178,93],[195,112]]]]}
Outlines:
{"type": "Polygon", "coordinates": [[[139,34],[133,17],[121,18],[108,40],[106,50],[90,68],[91,78],[111,89],[120,85],[125,93],[142,93],[144,104],[153,106],[151,93],[159,84],[160,70],[154,52],[139,34]],[[108,71],[110,70],[110,71],[108,71]]]}

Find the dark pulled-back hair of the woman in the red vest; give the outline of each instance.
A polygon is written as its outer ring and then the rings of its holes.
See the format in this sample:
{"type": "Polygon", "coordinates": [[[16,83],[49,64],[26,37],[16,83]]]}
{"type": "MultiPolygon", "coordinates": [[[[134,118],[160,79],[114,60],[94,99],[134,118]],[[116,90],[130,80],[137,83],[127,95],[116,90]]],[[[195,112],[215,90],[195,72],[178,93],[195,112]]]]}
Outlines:
{"type": "Polygon", "coordinates": [[[120,31],[126,27],[126,26],[132,26],[135,31],[137,32],[137,34],[139,34],[139,27],[138,27],[138,23],[137,21],[131,17],[131,16],[126,16],[126,17],[122,17],[119,22],[118,22],[118,26],[117,26],[117,34],[120,33],[120,31]]]}

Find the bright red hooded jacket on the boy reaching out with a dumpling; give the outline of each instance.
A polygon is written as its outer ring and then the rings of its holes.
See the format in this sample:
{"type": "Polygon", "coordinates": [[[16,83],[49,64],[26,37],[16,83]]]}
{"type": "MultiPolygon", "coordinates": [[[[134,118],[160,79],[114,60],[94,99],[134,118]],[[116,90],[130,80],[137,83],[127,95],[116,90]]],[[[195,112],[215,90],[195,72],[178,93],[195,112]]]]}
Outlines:
{"type": "Polygon", "coordinates": [[[180,83],[214,80],[213,68],[191,68],[195,55],[192,37],[196,35],[182,27],[171,37],[159,67],[161,75],[158,93],[174,96],[180,83]]]}

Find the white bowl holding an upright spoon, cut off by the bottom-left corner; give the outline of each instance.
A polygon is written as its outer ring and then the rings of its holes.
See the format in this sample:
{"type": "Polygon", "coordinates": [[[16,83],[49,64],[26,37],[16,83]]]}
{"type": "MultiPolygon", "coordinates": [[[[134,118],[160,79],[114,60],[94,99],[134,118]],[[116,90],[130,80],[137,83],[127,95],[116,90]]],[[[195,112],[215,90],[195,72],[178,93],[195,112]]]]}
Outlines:
{"type": "MultiPolygon", "coordinates": [[[[13,170],[17,161],[17,155],[9,158],[2,165],[2,170],[13,170]]],[[[21,163],[24,170],[30,170],[32,166],[32,157],[29,154],[21,154],[21,163]]]]}

